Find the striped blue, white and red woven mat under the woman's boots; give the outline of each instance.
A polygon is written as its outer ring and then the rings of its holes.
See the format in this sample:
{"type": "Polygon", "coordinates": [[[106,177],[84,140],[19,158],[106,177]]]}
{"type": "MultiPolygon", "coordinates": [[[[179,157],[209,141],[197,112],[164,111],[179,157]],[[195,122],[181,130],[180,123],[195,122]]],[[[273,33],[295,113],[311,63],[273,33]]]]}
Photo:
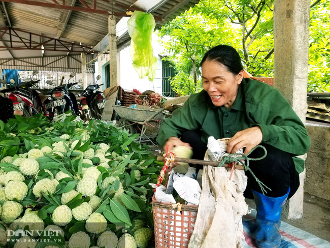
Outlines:
{"type": "MultiPolygon", "coordinates": [[[[253,233],[256,229],[255,222],[256,210],[246,216],[243,216],[243,227],[245,241],[243,247],[257,247],[254,243],[253,233]]],[[[330,242],[318,238],[308,232],[299,228],[293,227],[285,222],[281,222],[280,233],[282,242],[280,248],[295,248],[295,247],[308,247],[308,248],[329,248],[330,242]]]]}

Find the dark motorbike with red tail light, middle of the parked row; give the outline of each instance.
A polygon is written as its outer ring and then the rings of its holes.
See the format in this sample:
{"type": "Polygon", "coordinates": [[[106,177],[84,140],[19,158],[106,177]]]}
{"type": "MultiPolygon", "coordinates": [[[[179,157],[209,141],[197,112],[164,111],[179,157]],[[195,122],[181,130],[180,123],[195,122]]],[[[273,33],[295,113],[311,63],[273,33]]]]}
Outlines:
{"type": "MultiPolygon", "coordinates": [[[[75,76],[75,73],[70,74],[70,79],[75,76]]],[[[70,80],[69,79],[69,80],[70,80]]],[[[53,112],[51,118],[63,114],[69,110],[76,115],[79,115],[79,109],[77,104],[76,96],[69,92],[69,89],[77,83],[60,84],[59,86],[48,91],[48,95],[52,96],[53,99],[53,112]]],[[[49,83],[50,81],[48,81],[49,83]]]]}

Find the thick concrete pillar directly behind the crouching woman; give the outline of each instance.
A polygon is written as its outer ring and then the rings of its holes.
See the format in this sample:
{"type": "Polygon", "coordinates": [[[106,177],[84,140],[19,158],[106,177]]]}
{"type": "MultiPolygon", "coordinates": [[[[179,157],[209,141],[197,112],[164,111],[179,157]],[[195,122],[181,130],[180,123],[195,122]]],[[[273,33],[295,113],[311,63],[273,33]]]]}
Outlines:
{"type": "MultiPolygon", "coordinates": [[[[274,2],[274,87],[279,89],[305,123],[307,111],[310,0],[274,2]]],[[[306,157],[305,157],[306,158],[306,157]]],[[[299,219],[303,214],[305,171],[298,192],[285,204],[283,214],[299,219]]]]}

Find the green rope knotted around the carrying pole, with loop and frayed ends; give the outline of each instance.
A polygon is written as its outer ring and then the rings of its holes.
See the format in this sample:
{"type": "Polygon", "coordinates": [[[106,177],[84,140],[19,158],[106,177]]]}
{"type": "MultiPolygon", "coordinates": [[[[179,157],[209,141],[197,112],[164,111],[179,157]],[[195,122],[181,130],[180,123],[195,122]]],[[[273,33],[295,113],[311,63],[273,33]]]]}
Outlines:
{"type": "Polygon", "coordinates": [[[255,175],[254,175],[254,173],[251,171],[251,169],[249,168],[249,161],[251,160],[251,161],[257,161],[257,160],[262,160],[262,159],[264,159],[264,158],[266,158],[266,156],[267,156],[267,150],[266,150],[266,148],[264,147],[264,146],[262,146],[262,145],[257,145],[257,146],[255,146],[255,147],[253,147],[253,149],[249,152],[249,153],[247,153],[246,155],[245,154],[243,154],[243,153],[230,153],[229,155],[227,155],[227,156],[223,156],[222,157],[222,160],[221,160],[221,162],[219,163],[219,167],[221,167],[221,166],[223,166],[223,164],[230,164],[230,163],[233,163],[233,162],[236,162],[236,164],[242,164],[241,163],[241,160],[246,160],[246,164],[243,164],[243,167],[244,167],[244,170],[248,170],[248,171],[250,171],[250,173],[251,173],[251,175],[253,176],[253,178],[257,181],[257,183],[258,183],[258,185],[259,185],[259,187],[260,187],[260,189],[261,189],[261,193],[263,194],[263,195],[265,195],[265,193],[267,194],[267,191],[265,190],[265,188],[267,188],[268,190],[270,190],[270,191],[272,191],[270,188],[268,188],[263,182],[261,182],[255,175]],[[251,159],[251,158],[248,158],[248,156],[250,155],[250,153],[252,152],[252,151],[254,151],[256,148],[258,148],[258,147],[260,147],[260,148],[262,148],[264,151],[265,151],[265,154],[263,154],[263,156],[262,157],[260,157],[260,158],[257,158],[257,159],[251,159]],[[263,187],[265,187],[265,188],[263,188],[263,187]]]}

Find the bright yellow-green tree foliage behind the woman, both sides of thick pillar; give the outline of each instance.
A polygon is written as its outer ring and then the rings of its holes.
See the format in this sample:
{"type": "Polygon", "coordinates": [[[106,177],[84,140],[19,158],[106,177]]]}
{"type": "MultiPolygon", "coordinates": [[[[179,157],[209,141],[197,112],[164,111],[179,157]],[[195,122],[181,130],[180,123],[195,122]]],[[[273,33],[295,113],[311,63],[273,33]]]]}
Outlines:
{"type": "MultiPolygon", "coordinates": [[[[178,74],[172,87],[180,95],[201,89],[199,61],[210,48],[236,48],[253,76],[273,76],[273,0],[202,0],[159,30],[159,37],[178,74]],[[190,76],[192,75],[192,76],[190,76]],[[190,85],[191,84],[191,85],[190,85]]],[[[328,91],[330,69],[330,1],[311,6],[309,90],[328,91]]]]}

